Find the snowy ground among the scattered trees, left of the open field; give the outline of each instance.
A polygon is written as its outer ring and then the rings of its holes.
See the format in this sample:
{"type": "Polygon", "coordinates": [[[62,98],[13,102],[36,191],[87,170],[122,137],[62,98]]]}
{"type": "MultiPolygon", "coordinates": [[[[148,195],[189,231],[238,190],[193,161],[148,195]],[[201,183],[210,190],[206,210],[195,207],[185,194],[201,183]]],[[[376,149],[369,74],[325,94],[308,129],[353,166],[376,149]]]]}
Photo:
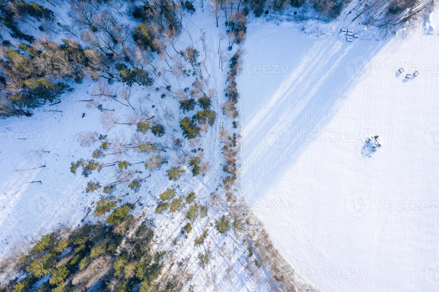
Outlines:
{"type": "MultiPolygon", "coordinates": [[[[220,18],[221,20],[221,18],[220,18]]],[[[172,97],[166,89],[156,91],[142,86],[133,85],[131,103],[134,107],[140,107],[140,102],[151,115],[155,115],[158,121],[166,126],[166,135],[154,138],[155,141],[169,147],[166,156],[169,163],[159,170],[151,173],[142,185],[138,193],[133,193],[126,185],[122,185],[115,192],[119,197],[125,193],[123,202],[133,203],[141,196],[134,215],[144,219],[152,218],[157,228],[155,231],[155,247],[158,250],[171,250],[169,261],[187,260],[187,272],[193,275],[191,281],[186,281],[185,289],[193,285],[194,291],[270,291],[270,284],[263,278],[267,271],[251,275],[243,265],[248,260],[248,245],[242,239],[235,238],[233,232],[221,235],[213,227],[214,220],[224,214],[224,210],[210,206],[210,194],[219,189],[222,182],[223,154],[222,145],[219,141],[219,130],[224,127],[232,128],[232,119],[221,114],[221,104],[227,100],[223,94],[227,77],[228,60],[237,50],[227,50],[227,40],[221,42],[221,35],[225,34],[224,26],[216,28],[215,18],[207,9],[203,12],[197,6],[194,14],[185,13],[184,29],[180,33],[174,45],[177,50],[185,49],[188,44],[193,44],[200,52],[199,61],[207,59],[206,70],[210,77],[205,76],[209,82],[209,88],[216,90],[218,96],[212,100],[212,109],[217,112],[217,119],[207,132],[202,132],[196,143],[182,139],[178,121],[184,116],[191,116],[194,112],[183,114],[177,110],[177,99],[172,97]],[[196,20],[196,21],[195,21],[196,20]],[[195,23],[196,22],[196,23],[195,23]],[[200,37],[205,39],[205,48],[200,37]],[[219,68],[219,52],[223,52],[224,71],[219,68]],[[165,93],[166,98],[161,98],[165,93]],[[164,110],[173,115],[166,118],[164,110]],[[169,181],[166,169],[176,164],[177,153],[170,150],[173,138],[180,138],[182,149],[192,153],[194,147],[203,149],[203,161],[209,161],[210,169],[205,176],[193,177],[190,170],[184,167],[186,174],[179,181],[169,181]],[[192,151],[192,152],[191,152],[192,151]],[[197,199],[201,204],[209,204],[209,214],[206,217],[193,222],[194,230],[184,239],[181,228],[187,223],[185,210],[174,214],[155,214],[158,195],[167,188],[176,188],[178,196],[184,196],[188,192],[196,192],[197,199]],[[194,238],[199,236],[209,225],[209,235],[205,244],[194,247],[194,238]],[[178,240],[177,240],[178,238],[178,240]],[[175,242],[174,242],[175,241],[175,242]],[[202,269],[198,265],[198,254],[205,253],[207,249],[212,251],[210,263],[202,269]],[[189,260],[190,259],[190,260],[189,260]],[[262,280],[261,280],[262,279],[262,280]]],[[[220,21],[224,22],[224,21],[220,21]]],[[[172,49],[169,50],[169,53],[172,49]]],[[[164,63],[156,58],[155,66],[164,63]]],[[[165,64],[166,65],[166,64],[165,64]]],[[[187,67],[190,67],[187,65],[187,67]]],[[[204,69],[203,69],[204,70],[204,69]]],[[[161,77],[155,77],[155,84],[166,86],[172,85],[172,90],[191,87],[194,77],[181,77],[165,70],[161,77]]],[[[204,71],[203,71],[204,74],[204,71]]],[[[115,181],[115,167],[104,168],[100,173],[96,171],[89,178],[79,174],[72,174],[69,170],[70,163],[79,158],[90,159],[92,151],[97,147],[82,147],[78,141],[78,134],[82,131],[108,135],[108,139],[125,138],[130,141],[136,133],[135,125],[115,125],[111,129],[104,128],[101,124],[103,113],[97,108],[87,107],[86,102],[76,100],[96,99],[103,104],[104,108],[115,109],[112,111],[125,123],[132,114],[130,107],[125,107],[114,100],[96,98],[92,96],[95,83],[85,80],[82,84],[72,84],[75,89],[72,93],[63,94],[61,103],[53,106],[45,105],[33,110],[30,118],[11,117],[0,120],[0,260],[14,255],[15,250],[22,250],[33,245],[41,235],[45,235],[56,228],[74,228],[82,224],[88,208],[94,209],[96,201],[102,196],[100,192],[86,193],[85,185],[90,180],[102,183],[115,181]],[[54,111],[53,111],[54,110],[54,111]],[[47,152],[41,152],[47,151],[47,152]],[[40,167],[45,165],[45,167],[40,167]],[[40,167],[28,170],[34,167],[40,167]],[[22,171],[20,171],[22,170],[22,171]],[[40,182],[41,181],[41,182],[40,182]]],[[[119,92],[122,84],[115,82],[112,89],[119,92]]],[[[198,152],[199,153],[199,152],[198,152]]],[[[142,153],[128,154],[129,157],[111,157],[107,162],[115,160],[130,160],[139,162],[147,159],[148,155],[142,153]]],[[[134,166],[133,166],[134,167],[134,166]]],[[[136,170],[145,171],[143,164],[136,164],[136,170]]],[[[85,222],[96,221],[97,217],[88,214],[85,222]]],[[[255,257],[254,257],[255,258],[255,257]]],[[[253,259],[251,261],[253,261],[253,259]]],[[[169,263],[168,263],[169,264],[169,263]]],[[[166,271],[174,269],[178,265],[166,267],[166,271]]],[[[2,279],[0,278],[0,281],[2,279]]]]}

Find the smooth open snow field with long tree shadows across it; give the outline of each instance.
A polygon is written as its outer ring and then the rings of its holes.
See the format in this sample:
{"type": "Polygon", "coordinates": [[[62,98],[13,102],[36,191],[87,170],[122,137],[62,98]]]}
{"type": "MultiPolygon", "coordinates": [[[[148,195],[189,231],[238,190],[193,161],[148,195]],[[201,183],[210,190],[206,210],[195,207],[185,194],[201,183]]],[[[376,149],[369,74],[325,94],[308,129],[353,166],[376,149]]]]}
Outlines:
{"type": "Polygon", "coordinates": [[[439,291],[439,36],[249,23],[242,190],[274,244],[324,291],[439,291]]]}

